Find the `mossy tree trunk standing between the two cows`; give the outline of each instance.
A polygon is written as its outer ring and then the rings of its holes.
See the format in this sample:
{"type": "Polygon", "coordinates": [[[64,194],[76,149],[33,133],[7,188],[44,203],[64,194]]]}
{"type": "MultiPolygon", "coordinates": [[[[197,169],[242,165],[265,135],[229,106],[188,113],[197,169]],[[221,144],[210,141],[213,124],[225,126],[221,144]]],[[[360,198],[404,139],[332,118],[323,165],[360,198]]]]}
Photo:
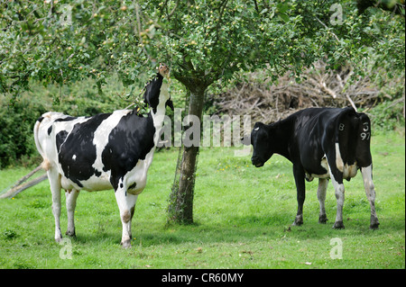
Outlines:
{"type": "MultiPolygon", "coordinates": [[[[190,92],[189,115],[195,115],[201,121],[206,86],[193,89],[187,87],[190,92]]],[[[198,127],[200,131],[200,127],[198,127]]],[[[178,166],[173,182],[170,203],[168,207],[168,219],[181,224],[193,223],[193,194],[196,178],[198,146],[192,145],[180,147],[178,166]]]]}

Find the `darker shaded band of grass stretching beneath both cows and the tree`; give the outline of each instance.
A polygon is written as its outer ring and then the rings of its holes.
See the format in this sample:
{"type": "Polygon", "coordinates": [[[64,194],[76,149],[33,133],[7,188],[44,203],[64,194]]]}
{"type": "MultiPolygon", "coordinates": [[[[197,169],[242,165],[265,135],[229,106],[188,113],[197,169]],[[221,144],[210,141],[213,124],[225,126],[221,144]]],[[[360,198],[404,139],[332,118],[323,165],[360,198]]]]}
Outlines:
{"type": "MultiPolygon", "coordinates": [[[[367,210],[348,209],[344,222],[346,229],[342,230],[332,229],[336,217],[334,209],[328,210],[327,224],[318,223],[318,211],[306,212],[304,224],[299,227],[291,226],[294,217],[295,211],[269,211],[240,216],[228,213],[223,217],[219,215],[210,217],[209,214],[199,213],[196,216],[196,222],[190,225],[165,224],[163,220],[149,221],[146,218],[139,218],[133,222],[132,244],[152,247],[185,243],[238,243],[281,238],[298,240],[347,236],[374,238],[392,232],[404,232],[405,229],[404,214],[394,214],[393,212],[390,215],[383,214],[382,216],[378,213],[381,222],[378,230],[369,229],[370,219],[367,210]]],[[[93,230],[80,227],[80,223],[78,223],[77,238],[73,238],[74,242],[84,245],[118,246],[122,235],[121,223],[101,221],[101,227],[93,228],[93,230]]]]}

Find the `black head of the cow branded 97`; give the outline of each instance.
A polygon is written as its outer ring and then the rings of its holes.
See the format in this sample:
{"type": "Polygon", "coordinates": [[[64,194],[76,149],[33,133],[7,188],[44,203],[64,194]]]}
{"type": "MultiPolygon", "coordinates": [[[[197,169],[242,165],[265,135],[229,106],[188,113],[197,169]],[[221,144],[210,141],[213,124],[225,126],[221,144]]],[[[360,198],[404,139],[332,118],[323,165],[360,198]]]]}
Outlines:
{"type": "Polygon", "coordinates": [[[251,162],[256,167],[261,167],[272,157],[272,139],[270,137],[270,128],[262,122],[255,122],[254,129],[251,132],[251,144],[254,148],[251,162]]]}

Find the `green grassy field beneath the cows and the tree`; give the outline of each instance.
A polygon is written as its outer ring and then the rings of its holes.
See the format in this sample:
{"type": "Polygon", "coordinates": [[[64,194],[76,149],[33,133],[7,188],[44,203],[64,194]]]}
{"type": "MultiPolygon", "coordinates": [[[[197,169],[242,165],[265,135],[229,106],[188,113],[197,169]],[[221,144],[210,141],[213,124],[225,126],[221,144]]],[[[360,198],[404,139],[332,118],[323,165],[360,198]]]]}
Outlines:
{"type": "MultiPolygon", "coordinates": [[[[391,132],[372,139],[376,211],[360,173],[346,184],[346,229],[331,229],[336,198],[328,185],[328,224],[318,224],[317,180],[307,184],[304,225],[291,227],[297,202],[291,163],[274,156],[262,168],[235,148],[202,148],[194,202],[195,224],[168,225],[167,200],[177,148],[155,154],[148,184],[138,197],[133,247],[119,246],[121,221],[113,191],[78,197],[72,259],[53,240],[48,181],[0,200],[1,268],[405,268],[405,141],[391,132]],[[342,259],[333,259],[338,238],[342,259]],[[337,240],[337,239],[335,239],[337,240]],[[63,256],[62,256],[63,257],[63,256]]],[[[0,171],[0,191],[28,169],[0,171]]],[[[62,197],[61,227],[67,227],[62,197]]]]}

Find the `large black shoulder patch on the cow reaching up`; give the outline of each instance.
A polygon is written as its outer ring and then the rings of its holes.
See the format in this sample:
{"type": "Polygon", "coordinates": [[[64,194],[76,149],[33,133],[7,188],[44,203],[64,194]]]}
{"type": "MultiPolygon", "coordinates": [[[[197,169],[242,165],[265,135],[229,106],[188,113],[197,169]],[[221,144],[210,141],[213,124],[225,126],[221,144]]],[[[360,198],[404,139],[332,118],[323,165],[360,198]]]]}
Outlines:
{"type": "Polygon", "coordinates": [[[151,113],[144,118],[135,112],[125,115],[110,132],[102,152],[102,162],[104,171],[111,170],[110,183],[115,190],[119,179],[151,151],[154,133],[151,113]]]}

